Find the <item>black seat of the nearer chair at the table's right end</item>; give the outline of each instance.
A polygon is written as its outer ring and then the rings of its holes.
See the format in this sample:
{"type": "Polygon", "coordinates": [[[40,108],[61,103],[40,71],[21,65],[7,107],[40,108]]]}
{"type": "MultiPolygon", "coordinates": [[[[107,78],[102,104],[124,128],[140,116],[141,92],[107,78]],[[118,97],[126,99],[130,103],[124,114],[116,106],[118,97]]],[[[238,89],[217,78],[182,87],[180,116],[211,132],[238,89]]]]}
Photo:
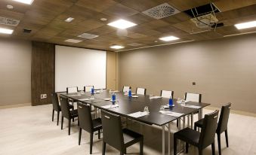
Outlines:
{"type": "Polygon", "coordinates": [[[181,141],[187,141],[194,146],[199,144],[200,132],[197,132],[190,128],[185,128],[180,130],[179,132],[174,133],[174,138],[178,138],[181,141]]]}

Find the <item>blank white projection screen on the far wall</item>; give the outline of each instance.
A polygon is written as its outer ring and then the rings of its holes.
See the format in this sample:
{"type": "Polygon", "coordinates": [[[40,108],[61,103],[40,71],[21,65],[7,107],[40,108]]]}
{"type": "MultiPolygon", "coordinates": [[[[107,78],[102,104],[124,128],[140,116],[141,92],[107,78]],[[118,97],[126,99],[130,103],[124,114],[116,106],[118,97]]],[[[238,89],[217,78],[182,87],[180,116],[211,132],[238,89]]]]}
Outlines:
{"type": "Polygon", "coordinates": [[[66,87],[106,88],[106,51],[55,46],[55,92],[66,87]]]}

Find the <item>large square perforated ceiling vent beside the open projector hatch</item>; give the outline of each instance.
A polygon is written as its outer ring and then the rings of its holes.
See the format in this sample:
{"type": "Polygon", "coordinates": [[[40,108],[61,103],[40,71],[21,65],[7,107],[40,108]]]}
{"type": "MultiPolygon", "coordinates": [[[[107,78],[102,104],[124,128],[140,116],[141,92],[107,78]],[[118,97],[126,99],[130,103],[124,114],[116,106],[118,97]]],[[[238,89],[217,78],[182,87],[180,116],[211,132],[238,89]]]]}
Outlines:
{"type": "Polygon", "coordinates": [[[147,14],[147,16],[153,17],[156,20],[169,17],[171,15],[177,14],[180,11],[178,11],[173,6],[169,5],[168,3],[164,3],[162,5],[158,5],[154,8],[150,8],[147,11],[143,11],[143,14],[147,14]]]}

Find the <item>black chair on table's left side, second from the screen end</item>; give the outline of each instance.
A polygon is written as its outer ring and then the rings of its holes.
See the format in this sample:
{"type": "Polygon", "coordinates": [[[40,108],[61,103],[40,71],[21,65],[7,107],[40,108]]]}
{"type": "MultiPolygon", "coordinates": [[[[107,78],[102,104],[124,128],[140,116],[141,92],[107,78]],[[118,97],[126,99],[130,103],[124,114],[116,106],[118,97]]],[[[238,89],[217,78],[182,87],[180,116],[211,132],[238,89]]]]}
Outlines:
{"type": "Polygon", "coordinates": [[[70,124],[71,119],[74,120],[74,118],[78,117],[79,114],[76,110],[70,111],[69,110],[69,101],[66,97],[60,96],[60,108],[61,108],[61,129],[63,129],[63,118],[65,117],[67,120],[69,120],[69,135],[70,135],[70,124]]]}

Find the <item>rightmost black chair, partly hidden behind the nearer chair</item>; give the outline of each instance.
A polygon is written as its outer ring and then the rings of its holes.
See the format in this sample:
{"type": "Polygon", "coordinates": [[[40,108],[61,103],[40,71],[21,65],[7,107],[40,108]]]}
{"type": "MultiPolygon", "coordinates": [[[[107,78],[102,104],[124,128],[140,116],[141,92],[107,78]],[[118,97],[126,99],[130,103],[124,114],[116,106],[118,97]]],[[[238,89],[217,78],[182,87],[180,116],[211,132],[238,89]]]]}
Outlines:
{"type": "MultiPolygon", "coordinates": [[[[217,123],[217,145],[218,145],[218,150],[219,150],[219,155],[221,155],[221,133],[225,132],[225,137],[226,137],[226,144],[227,147],[229,147],[229,142],[228,142],[228,136],[227,136],[227,123],[229,120],[230,116],[230,108],[231,108],[231,103],[228,103],[227,105],[224,105],[221,107],[221,115],[219,122],[217,123]]],[[[202,128],[204,119],[201,119],[195,123],[194,129],[196,130],[197,127],[202,128]]]]}

